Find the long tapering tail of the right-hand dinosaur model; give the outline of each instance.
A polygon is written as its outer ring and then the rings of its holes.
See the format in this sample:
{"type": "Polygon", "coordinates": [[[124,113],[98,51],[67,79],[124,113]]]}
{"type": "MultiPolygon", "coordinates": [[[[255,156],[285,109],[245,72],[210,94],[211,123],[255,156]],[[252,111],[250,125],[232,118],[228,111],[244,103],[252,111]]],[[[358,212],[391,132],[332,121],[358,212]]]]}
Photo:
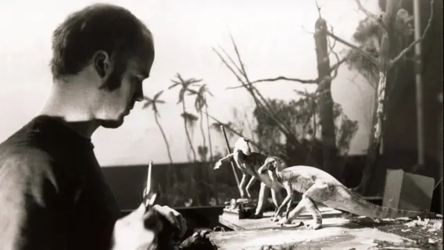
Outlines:
{"type": "MultiPolygon", "coordinates": [[[[396,217],[416,217],[422,215],[423,212],[401,210],[394,208],[387,208],[377,206],[369,201],[366,201],[355,192],[348,190],[345,187],[339,188],[339,194],[343,198],[341,202],[334,202],[338,209],[345,210],[359,216],[366,216],[374,219],[382,218],[396,218],[396,217]]],[[[327,204],[326,204],[327,205],[327,204]]]]}

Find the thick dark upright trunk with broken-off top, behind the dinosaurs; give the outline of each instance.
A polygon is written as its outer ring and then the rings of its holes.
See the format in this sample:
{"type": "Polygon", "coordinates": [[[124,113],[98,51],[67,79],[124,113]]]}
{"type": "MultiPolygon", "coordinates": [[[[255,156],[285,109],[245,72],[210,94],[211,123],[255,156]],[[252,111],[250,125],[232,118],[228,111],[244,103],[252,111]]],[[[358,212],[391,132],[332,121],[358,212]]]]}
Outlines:
{"type": "MultiPolygon", "coordinates": [[[[321,17],[316,20],[314,40],[316,44],[316,59],[320,79],[330,76],[330,59],[327,47],[327,24],[321,17]]],[[[342,174],[336,173],[336,135],[334,131],[333,99],[331,81],[322,81],[318,85],[318,108],[321,123],[321,141],[323,146],[323,169],[341,179],[342,174]]]]}

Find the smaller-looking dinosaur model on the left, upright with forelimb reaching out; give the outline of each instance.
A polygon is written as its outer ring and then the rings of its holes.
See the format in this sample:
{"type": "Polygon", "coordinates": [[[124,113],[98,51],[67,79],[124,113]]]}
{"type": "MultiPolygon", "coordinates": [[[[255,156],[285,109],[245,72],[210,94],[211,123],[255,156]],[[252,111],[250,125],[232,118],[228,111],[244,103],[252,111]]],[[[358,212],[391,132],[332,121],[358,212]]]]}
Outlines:
{"type": "MultiPolygon", "coordinates": [[[[264,208],[264,200],[266,200],[266,192],[268,189],[271,190],[271,198],[273,199],[273,203],[275,205],[276,210],[279,208],[279,203],[282,201],[282,196],[280,195],[280,190],[282,190],[282,186],[278,183],[273,183],[271,180],[271,174],[259,174],[257,169],[261,167],[266,158],[268,156],[252,152],[250,149],[249,141],[245,138],[239,138],[234,144],[233,153],[230,153],[228,156],[225,156],[221,160],[216,163],[215,169],[219,168],[222,164],[222,160],[226,160],[229,158],[234,158],[237,167],[241,169],[242,179],[239,183],[239,190],[241,190],[241,197],[245,198],[245,194],[248,198],[251,198],[250,188],[253,186],[256,180],[261,181],[261,186],[259,190],[259,199],[257,201],[257,208],[255,211],[255,215],[253,218],[262,217],[262,211],[264,208]],[[246,181],[248,176],[250,177],[250,181],[246,185],[246,181]]],[[[278,160],[278,169],[284,169],[287,167],[287,164],[282,160],[282,158],[275,157],[278,160]]],[[[280,213],[275,213],[276,216],[279,216],[280,213]]],[[[278,220],[278,217],[272,217],[273,221],[278,220]]]]}

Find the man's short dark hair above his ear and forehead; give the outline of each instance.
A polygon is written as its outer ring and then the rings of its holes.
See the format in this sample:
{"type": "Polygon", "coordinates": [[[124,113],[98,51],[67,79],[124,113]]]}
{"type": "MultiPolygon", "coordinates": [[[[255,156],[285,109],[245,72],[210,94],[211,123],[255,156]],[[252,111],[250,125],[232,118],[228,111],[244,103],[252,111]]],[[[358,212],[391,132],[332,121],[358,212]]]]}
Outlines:
{"type": "Polygon", "coordinates": [[[115,60],[154,56],[151,31],[133,13],[121,6],[95,3],[72,12],[53,32],[53,78],[78,74],[96,51],[106,51],[115,60]]]}

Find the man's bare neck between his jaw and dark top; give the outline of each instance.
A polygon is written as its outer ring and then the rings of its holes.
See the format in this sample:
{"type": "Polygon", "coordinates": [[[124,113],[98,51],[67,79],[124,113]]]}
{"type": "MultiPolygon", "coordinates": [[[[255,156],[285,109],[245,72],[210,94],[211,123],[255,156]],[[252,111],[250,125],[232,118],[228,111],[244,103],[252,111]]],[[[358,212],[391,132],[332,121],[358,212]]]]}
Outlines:
{"type": "Polygon", "coordinates": [[[78,97],[74,91],[62,91],[56,86],[40,115],[57,117],[65,126],[84,138],[91,138],[99,128],[99,122],[85,104],[85,97],[78,97]]]}

